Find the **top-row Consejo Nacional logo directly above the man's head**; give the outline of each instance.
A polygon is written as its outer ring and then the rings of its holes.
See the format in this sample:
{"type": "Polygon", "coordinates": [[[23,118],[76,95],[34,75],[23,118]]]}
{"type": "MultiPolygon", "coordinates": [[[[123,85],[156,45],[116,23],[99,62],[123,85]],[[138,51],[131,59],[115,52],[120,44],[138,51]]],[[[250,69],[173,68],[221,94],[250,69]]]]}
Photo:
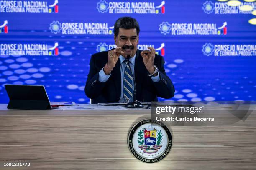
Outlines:
{"type": "Polygon", "coordinates": [[[99,13],[112,14],[164,14],[165,1],[155,6],[155,2],[106,2],[97,3],[99,13]]]}

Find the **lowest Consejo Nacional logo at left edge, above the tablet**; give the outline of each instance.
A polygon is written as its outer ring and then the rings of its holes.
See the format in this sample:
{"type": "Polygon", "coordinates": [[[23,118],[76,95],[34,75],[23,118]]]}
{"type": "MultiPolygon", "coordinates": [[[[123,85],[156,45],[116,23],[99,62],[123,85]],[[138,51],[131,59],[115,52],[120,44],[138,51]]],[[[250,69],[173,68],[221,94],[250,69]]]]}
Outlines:
{"type": "Polygon", "coordinates": [[[0,44],[1,55],[59,55],[59,44],[0,44]]]}

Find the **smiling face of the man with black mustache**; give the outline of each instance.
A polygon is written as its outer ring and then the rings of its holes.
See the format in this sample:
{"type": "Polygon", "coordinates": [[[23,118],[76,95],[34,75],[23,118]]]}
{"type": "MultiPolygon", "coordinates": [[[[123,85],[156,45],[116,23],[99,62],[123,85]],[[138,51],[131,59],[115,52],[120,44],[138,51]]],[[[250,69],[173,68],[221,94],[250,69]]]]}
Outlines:
{"type": "Polygon", "coordinates": [[[119,28],[118,36],[114,36],[115,44],[123,49],[123,57],[127,58],[127,55],[133,57],[137,50],[138,35],[136,28],[124,29],[119,28]]]}

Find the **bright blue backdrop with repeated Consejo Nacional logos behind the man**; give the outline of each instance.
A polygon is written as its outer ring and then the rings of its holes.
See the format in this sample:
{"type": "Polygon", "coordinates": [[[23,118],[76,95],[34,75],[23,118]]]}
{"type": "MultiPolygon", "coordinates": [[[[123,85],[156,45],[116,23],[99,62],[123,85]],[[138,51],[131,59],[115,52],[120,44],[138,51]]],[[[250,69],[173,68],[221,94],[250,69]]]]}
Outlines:
{"type": "Polygon", "coordinates": [[[115,47],[122,16],[138,20],[140,49],[164,56],[172,100],[255,100],[256,2],[222,1],[0,0],[0,103],[8,102],[5,84],[89,102],[90,57],[115,47]]]}

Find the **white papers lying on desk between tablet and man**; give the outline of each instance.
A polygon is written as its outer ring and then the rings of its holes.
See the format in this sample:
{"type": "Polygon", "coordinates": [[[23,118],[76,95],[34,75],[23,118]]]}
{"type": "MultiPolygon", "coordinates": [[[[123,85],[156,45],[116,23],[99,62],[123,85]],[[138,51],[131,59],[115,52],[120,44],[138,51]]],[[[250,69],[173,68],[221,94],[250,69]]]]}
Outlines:
{"type": "Polygon", "coordinates": [[[110,111],[110,110],[127,110],[121,106],[59,106],[60,110],[92,110],[92,111],[110,111]]]}

